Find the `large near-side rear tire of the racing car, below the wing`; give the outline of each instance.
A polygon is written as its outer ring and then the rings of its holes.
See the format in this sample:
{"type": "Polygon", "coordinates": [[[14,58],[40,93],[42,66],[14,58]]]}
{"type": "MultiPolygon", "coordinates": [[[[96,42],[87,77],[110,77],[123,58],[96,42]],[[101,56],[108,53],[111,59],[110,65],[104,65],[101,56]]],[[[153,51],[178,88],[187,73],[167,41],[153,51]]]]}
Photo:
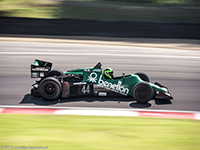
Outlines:
{"type": "Polygon", "coordinates": [[[60,81],[54,77],[47,77],[39,84],[39,94],[46,100],[58,100],[62,93],[60,81]]]}

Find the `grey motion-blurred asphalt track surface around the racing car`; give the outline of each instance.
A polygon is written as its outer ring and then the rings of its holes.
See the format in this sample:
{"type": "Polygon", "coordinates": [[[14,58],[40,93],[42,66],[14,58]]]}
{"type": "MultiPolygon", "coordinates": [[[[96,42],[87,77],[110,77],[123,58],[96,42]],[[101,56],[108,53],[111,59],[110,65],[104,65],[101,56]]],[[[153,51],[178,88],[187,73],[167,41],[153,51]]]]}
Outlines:
{"type": "Polygon", "coordinates": [[[200,111],[200,51],[98,44],[0,41],[0,105],[101,107],[200,111]],[[30,95],[34,59],[53,62],[63,71],[92,67],[101,61],[114,75],[145,72],[167,86],[172,101],[137,104],[124,96],[71,97],[47,102],[30,95]],[[121,101],[118,103],[118,101],[121,101]]]}

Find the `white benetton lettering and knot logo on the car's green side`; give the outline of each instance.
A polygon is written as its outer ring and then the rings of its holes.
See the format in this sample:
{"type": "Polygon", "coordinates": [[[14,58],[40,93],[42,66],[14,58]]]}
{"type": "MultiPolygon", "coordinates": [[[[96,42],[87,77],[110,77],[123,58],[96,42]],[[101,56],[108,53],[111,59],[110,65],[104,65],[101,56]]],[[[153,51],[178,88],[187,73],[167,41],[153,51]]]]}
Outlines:
{"type": "Polygon", "coordinates": [[[87,80],[92,83],[97,83],[101,87],[104,87],[106,89],[109,89],[109,90],[117,92],[117,93],[127,95],[129,92],[128,88],[125,88],[124,86],[122,86],[122,81],[118,81],[117,84],[112,84],[111,82],[102,80],[102,75],[100,76],[99,80],[97,81],[97,74],[95,72],[92,72],[88,76],[87,80]]]}

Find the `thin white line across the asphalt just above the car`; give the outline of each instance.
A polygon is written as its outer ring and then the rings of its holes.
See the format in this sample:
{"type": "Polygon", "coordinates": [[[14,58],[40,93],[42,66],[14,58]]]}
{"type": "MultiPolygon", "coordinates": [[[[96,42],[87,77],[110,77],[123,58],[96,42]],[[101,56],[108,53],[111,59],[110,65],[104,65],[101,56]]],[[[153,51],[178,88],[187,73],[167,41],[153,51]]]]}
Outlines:
{"type": "Polygon", "coordinates": [[[137,54],[110,54],[110,53],[52,53],[52,52],[0,52],[0,55],[57,55],[57,56],[116,56],[116,57],[154,57],[154,58],[190,58],[200,59],[200,56],[174,55],[137,55],[137,54]]]}

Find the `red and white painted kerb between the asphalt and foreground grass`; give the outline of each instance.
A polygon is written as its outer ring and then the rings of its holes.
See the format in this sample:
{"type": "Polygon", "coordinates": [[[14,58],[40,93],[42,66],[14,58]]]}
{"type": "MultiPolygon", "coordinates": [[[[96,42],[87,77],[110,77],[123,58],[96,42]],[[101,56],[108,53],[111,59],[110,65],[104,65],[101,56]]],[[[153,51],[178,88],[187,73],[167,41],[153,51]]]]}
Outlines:
{"type": "Polygon", "coordinates": [[[0,114],[43,114],[43,115],[87,115],[87,116],[124,116],[155,117],[200,120],[200,112],[135,110],[118,108],[84,108],[84,107],[34,107],[34,106],[0,106],[0,114]],[[3,108],[1,108],[3,107],[3,108]],[[54,109],[52,109],[54,108],[54,109]],[[160,112],[159,112],[160,111],[160,112]]]}

